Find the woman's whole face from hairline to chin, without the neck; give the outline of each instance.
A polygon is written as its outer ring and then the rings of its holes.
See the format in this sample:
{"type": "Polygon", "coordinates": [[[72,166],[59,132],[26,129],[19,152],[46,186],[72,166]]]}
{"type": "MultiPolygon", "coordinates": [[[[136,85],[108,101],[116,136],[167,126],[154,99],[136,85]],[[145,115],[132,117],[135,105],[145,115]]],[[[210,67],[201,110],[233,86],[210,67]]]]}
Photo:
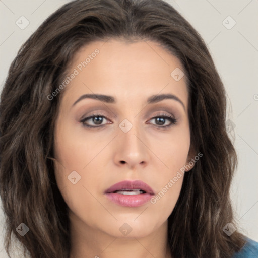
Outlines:
{"type": "Polygon", "coordinates": [[[192,158],[182,70],[152,41],[98,41],[76,54],[59,93],[54,150],[78,230],[143,237],[167,225],[178,171],[192,158]]]}

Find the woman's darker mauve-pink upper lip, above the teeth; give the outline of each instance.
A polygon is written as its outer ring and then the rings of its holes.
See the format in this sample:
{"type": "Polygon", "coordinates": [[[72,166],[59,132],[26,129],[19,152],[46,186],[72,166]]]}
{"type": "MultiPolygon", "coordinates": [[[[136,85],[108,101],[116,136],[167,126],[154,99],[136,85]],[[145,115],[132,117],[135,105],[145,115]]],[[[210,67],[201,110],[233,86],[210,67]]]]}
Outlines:
{"type": "Polygon", "coordinates": [[[151,195],[154,195],[153,189],[146,184],[145,182],[141,180],[136,180],[136,181],[121,181],[119,183],[116,183],[109,187],[105,193],[110,193],[110,192],[115,192],[117,190],[122,190],[122,189],[141,189],[145,191],[146,193],[150,193],[151,195]]]}

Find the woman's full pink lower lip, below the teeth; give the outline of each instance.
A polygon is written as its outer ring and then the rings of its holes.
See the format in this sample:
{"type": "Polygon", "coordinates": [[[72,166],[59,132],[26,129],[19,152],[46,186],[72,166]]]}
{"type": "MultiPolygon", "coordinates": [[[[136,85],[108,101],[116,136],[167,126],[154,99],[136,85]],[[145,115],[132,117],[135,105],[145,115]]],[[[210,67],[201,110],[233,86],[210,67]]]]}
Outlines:
{"type": "Polygon", "coordinates": [[[142,193],[141,195],[121,195],[120,193],[110,192],[106,197],[115,204],[127,207],[139,207],[150,201],[153,195],[142,193]]]}

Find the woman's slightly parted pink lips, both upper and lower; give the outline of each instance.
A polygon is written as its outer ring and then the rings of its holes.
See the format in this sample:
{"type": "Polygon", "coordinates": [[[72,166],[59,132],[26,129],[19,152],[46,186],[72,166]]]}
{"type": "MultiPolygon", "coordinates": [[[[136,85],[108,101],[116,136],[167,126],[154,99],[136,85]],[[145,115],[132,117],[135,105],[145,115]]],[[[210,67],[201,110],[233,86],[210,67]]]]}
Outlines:
{"type": "Polygon", "coordinates": [[[153,189],[143,181],[121,181],[112,185],[105,192],[105,196],[113,203],[120,206],[127,207],[139,207],[150,201],[151,197],[154,195],[153,189]],[[122,195],[116,193],[115,191],[121,189],[141,189],[145,193],[139,195],[122,195]]]}

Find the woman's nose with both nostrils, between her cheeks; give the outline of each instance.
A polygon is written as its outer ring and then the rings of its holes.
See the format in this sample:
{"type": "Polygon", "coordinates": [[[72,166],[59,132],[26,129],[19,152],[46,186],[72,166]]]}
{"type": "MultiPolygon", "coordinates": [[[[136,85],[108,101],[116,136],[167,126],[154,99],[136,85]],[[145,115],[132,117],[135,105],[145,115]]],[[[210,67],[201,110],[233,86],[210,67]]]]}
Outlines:
{"type": "Polygon", "coordinates": [[[136,170],[147,166],[150,160],[150,150],[147,147],[146,137],[142,135],[136,125],[133,125],[127,133],[119,129],[114,156],[116,165],[136,170]]]}

